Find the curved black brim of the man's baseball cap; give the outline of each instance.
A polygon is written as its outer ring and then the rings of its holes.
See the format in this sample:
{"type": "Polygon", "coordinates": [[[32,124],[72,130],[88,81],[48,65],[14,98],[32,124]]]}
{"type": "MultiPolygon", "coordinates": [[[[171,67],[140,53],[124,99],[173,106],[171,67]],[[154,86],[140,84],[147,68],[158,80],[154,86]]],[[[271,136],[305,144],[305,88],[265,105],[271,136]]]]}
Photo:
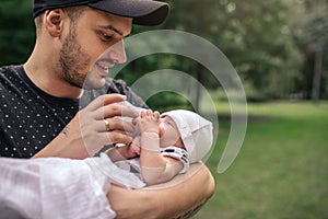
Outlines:
{"type": "Polygon", "coordinates": [[[91,8],[120,16],[132,18],[134,24],[159,25],[168,14],[168,4],[152,0],[107,0],[87,4],[91,8]]]}

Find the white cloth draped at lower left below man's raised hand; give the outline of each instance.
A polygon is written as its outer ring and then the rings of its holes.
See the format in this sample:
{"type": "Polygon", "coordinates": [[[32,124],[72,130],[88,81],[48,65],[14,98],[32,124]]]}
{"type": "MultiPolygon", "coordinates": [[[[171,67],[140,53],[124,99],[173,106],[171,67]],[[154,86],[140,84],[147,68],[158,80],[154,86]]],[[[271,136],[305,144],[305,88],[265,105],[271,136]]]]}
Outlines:
{"type": "Polygon", "coordinates": [[[0,166],[1,217],[115,218],[104,187],[82,160],[0,158],[0,166]]]}

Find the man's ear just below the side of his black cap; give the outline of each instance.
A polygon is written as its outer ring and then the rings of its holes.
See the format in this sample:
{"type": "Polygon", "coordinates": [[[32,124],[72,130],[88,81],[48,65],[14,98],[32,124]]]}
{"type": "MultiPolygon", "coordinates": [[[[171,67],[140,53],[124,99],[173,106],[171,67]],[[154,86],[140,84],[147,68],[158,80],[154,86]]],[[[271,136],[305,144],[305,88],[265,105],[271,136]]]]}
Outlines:
{"type": "Polygon", "coordinates": [[[47,10],[44,14],[44,24],[52,37],[59,37],[63,31],[65,13],[62,9],[47,10]]]}

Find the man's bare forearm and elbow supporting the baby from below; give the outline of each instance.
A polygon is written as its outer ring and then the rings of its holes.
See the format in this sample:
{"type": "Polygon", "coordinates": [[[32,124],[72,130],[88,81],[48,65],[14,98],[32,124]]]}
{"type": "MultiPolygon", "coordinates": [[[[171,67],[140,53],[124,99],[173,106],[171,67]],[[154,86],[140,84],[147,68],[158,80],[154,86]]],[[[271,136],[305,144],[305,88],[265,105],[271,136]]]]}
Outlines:
{"type": "Polygon", "coordinates": [[[118,219],[183,219],[195,215],[213,195],[214,187],[209,169],[195,163],[168,183],[136,191],[113,185],[107,198],[118,219]]]}

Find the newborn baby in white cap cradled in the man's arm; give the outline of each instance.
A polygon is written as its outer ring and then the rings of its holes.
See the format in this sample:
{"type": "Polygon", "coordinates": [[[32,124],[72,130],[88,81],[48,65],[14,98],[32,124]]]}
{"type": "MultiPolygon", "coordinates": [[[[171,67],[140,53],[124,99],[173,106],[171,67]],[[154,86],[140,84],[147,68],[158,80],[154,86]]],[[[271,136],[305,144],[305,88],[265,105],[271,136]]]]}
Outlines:
{"type": "Polygon", "coordinates": [[[212,123],[185,110],[160,115],[144,110],[133,123],[140,135],[132,143],[106,151],[120,169],[134,173],[147,185],[164,183],[187,172],[211,149],[212,123]]]}

